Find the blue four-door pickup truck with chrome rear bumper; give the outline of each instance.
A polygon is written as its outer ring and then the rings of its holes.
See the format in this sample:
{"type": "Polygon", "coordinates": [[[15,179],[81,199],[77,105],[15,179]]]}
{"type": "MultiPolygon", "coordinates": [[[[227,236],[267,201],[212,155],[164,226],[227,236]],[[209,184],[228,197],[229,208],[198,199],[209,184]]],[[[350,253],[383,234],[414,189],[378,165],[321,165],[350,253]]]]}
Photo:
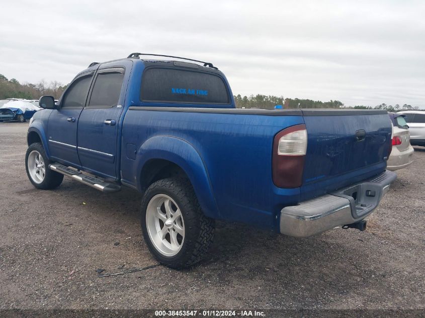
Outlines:
{"type": "Polygon", "coordinates": [[[57,103],[39,104],[32,184],[52,189],[65,175],[105,193],[136,189],[144,240],[173,268],[202,259],[216,219],[293,237],[364,230],[396,177],[387,112],[237,109],[207,62],[132,53],[90,64],[57,103]]]}

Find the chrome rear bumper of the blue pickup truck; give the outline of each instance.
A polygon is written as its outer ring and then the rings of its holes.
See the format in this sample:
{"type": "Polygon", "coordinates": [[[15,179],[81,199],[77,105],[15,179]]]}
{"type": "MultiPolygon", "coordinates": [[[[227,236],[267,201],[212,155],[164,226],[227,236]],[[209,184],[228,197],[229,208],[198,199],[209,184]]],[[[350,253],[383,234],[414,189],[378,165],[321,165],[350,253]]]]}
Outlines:
{"type": "Polygon", "coordinates": [[[284,207],[280,232],[293,237],[308,237],[363,220],[378,206],[396,177],[394,172],[386,170],[335,192],[284,207]]]}

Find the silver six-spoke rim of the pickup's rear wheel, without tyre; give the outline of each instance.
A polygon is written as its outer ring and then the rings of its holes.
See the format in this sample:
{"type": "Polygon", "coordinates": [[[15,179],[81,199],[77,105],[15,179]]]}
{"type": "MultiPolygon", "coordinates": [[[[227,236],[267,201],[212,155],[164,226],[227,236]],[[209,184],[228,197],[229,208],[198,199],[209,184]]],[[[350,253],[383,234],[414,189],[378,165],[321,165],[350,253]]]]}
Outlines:
{"type": "Polygon", "coordinates": [[[166,194],[153,196],[146,208],[146,229],[156,250],[175,256],[185,241],[185,224],[176,202],[166,194]]]}

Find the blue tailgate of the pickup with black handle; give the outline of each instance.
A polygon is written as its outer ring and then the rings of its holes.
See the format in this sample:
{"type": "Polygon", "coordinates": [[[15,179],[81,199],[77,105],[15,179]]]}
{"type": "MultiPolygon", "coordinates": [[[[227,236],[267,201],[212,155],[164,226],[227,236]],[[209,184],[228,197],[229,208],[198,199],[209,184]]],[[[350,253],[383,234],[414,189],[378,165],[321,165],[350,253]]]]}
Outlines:
{"type": "Polygon", "coordinates": [[[321,195],[385,170],[391,123],[383,111],[303,110],[307,152],[304,198],[321,195]]]}

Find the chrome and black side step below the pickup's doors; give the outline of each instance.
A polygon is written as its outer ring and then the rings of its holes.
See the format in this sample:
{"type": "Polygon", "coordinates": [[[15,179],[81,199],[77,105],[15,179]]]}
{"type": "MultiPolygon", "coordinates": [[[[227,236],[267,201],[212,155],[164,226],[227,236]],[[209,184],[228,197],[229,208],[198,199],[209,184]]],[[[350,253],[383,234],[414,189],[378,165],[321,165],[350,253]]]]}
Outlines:
{"type": "Polygon", "coordinates": [[[49,168],[105,193],[117,192],[121,190],[121,186],[116,183],[105,181],[100,177],[92,177],[78,170],[66,167],[60,163],[52,163],[49,165],[49,168]]]}

